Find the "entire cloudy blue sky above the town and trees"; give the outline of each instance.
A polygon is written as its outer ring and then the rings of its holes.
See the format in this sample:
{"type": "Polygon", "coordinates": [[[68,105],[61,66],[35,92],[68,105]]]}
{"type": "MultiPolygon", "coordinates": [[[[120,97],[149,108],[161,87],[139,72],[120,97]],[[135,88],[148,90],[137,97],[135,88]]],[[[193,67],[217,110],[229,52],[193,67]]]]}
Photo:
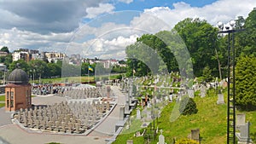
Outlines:
{"type": "Polygon", "coordinates": [[[0,47],[123,60],[145,33],[185,18],[226,24],[253,8],[255,0],[0,0],[0,47]]]}

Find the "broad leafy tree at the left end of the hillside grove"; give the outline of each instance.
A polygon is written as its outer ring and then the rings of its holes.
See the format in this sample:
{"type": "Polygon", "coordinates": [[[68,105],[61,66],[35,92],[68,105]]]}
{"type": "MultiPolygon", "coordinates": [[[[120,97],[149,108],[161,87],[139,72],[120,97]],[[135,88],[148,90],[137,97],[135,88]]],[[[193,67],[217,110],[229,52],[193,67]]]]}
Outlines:
{"type": "Polygon", "coordinates": [[[144,34],[137,38],[137,42],[126,47],[127,60],[126,74],[129,76],[145,76],[151,73],[166,73],[177,71],[177,64],[171,49],[160,36],[165,32],[144,34]]]}

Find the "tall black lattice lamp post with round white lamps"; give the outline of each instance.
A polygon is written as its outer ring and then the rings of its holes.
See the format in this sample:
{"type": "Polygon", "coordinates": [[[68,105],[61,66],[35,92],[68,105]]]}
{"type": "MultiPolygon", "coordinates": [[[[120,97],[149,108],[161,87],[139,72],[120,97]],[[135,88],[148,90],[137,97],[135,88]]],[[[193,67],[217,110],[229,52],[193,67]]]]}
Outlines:
{"type": "Polygon", "coordinates": [[[241,32],[241,27],[244,25],[244,20],[230,20],[229,25],[224,27],[223,22],[218,22],[218,33],[228,34],[228,109],[227,109],[227,143],[236,143],[236,85],[235,85],[235,66],[236,66],[236,51],[235,51],[235,32],[241,32]],[[238,24],[239,29],[235,29],[238,24]],[[225,28],[225,29],[224,29],[225,28]],[[230,34],[232,37],[230,37],[230,34]],[[232,40],[232,41],[231,41],[232,40]],[[230,47],[231,46],[231,47],[230,47]],[[232,72],[232,73],[230,73],[232,72]],[[232,84],[232,85],[230,85],[232,84]]]}

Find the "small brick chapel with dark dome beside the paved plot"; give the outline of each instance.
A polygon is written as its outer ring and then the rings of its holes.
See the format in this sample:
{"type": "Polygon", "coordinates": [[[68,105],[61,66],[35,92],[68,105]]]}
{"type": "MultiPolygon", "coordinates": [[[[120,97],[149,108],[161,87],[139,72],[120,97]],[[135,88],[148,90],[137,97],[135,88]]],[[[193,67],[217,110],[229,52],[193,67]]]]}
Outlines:
{"type": "Polygon", "coordinates": [[[26,72],[19,68],[9,74],[9,84],[5,87],[6,112],[32,107],[31,84],[28,80],[26,72]]]}

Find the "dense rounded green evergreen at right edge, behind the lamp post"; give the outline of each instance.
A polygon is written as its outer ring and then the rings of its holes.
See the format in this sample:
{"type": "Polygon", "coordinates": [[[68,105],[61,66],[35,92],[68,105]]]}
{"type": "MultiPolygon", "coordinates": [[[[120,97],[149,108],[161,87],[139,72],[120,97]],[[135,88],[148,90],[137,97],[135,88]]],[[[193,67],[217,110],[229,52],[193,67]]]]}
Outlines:
{"type": "Polygon", "coordinates": [[[256,109],[256,57],[241,56],[236,64],[236,105],[256,109]]]}

